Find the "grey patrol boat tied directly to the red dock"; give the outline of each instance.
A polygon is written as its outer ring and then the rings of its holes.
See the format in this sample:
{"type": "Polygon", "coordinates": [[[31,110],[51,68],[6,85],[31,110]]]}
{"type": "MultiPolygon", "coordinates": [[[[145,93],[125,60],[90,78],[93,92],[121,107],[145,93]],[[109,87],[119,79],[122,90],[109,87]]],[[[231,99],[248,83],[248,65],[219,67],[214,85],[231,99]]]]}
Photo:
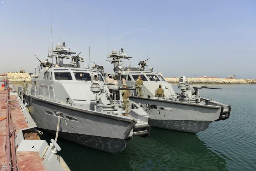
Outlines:
{"type": "Polygon", "coordinates": [[[122,114],[120,86],[106,85],[101,73],[81,68],[84,57],[72,56],[65,42],[50,51],[56,64],[41,62],[38,76],[23,92],[24,104],[38,128],[89,148],[117,153],[133,136],[147,137],[150,118],[130,101],[122,114]],[[63,60],[71,59],[69,64],[63,60]],[[57,126],[58,125],[58,126],[57,126]]]}

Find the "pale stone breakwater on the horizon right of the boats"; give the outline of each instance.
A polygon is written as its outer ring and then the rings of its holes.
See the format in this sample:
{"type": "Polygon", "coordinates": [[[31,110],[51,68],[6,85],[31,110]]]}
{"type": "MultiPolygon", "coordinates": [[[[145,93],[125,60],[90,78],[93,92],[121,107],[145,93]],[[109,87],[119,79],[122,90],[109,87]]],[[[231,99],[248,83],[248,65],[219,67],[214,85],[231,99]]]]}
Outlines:
{"type": "MultiPolygon", "coordinates": [[[[164,78],[169,83],[179,83],[179,78],[164,78]]],[[[186,78],[192,84],[256,84],[256,79],[186,78]]]]}

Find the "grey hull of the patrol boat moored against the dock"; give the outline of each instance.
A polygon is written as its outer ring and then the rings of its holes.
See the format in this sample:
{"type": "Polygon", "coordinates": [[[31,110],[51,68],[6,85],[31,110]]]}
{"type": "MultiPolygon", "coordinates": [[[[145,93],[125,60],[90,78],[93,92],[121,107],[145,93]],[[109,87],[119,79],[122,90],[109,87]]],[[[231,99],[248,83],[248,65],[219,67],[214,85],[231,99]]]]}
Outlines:
{"type": "Polygon", "coordinates": [[[129,118],[66,106],[28,94],[24,95],[24,99],[38,128],[56,134],[56,112],[61,112],[59,137],[108,153],[126,148],[136,124],[129,118]]]}

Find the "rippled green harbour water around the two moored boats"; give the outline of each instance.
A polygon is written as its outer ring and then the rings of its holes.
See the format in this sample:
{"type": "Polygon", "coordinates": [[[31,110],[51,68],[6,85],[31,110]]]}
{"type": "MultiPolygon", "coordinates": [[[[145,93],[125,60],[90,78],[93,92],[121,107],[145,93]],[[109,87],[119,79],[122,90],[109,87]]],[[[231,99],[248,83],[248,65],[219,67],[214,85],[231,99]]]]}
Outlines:
{"type": "MultiPolygon", "coordinates": [[[[256,85],[207,85],[201,95],[231,105],[230,118],[197,134],[152,128],[121,153],[108,154],[58,139],[71,170],[256,170],[256,85]]],[[[173,85],[176,90],[176,85],[173,85]]],[[[48,142],[53,135],[44,133],[48,142]]]]}

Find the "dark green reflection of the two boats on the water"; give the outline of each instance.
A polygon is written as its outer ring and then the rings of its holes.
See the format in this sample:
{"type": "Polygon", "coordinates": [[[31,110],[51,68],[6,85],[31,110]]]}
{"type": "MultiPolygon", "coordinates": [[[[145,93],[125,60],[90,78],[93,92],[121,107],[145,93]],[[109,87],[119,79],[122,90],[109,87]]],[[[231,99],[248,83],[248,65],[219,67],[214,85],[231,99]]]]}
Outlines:
{"type": "MultiPolygon", "coordinates": [[[[44,132],[43,139],[53,138],[44,132]]],[[[227,170],[226,161],[196,134],[152,128],[134,137],[121,153],[108,154],[58,139],[59,154],[71,170],[227,170]]]]}

